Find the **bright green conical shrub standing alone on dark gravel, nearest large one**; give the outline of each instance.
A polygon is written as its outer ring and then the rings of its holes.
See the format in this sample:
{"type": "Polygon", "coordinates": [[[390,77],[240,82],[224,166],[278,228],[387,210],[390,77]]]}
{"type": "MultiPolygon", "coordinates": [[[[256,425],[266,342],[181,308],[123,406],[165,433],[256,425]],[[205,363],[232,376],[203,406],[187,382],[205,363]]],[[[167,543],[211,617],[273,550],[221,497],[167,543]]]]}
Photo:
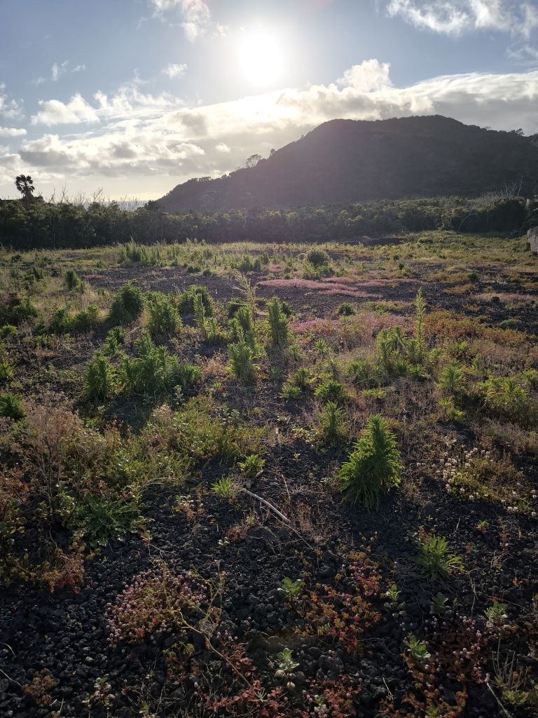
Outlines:
{"type": "Polygon", "coordinates": [[[339,489],[351,501],[367,508],[379,503],[379,494],[400,483],[402,465],[394,434],[379,414],[370,416],[349,460],[341,466],[339,489]]]}

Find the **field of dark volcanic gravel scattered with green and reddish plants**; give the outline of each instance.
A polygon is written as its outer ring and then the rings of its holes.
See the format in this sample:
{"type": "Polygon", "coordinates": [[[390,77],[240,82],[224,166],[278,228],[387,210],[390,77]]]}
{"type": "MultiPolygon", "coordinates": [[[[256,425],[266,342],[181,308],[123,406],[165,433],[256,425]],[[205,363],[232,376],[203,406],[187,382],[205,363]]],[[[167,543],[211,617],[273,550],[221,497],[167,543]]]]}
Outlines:
{"type": "Polygon", "coordinates": [[[2,250],[0,715],[538,714],[537,302],[449,230],[2,250]]]}

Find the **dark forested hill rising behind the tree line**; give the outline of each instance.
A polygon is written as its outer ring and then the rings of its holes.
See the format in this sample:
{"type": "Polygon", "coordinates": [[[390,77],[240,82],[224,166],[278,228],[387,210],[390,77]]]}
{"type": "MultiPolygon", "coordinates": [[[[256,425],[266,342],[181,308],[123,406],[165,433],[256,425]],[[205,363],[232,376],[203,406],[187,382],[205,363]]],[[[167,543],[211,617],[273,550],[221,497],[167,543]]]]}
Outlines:
{"type": "Polygon", "coordinates": [[[218,180],[177,185],[169,213],[472,197],[522,181],[538,187],[537,137],[465,125],[443,116],[378,121],[332,120],[273,152],[255,167],[218,180]]]}

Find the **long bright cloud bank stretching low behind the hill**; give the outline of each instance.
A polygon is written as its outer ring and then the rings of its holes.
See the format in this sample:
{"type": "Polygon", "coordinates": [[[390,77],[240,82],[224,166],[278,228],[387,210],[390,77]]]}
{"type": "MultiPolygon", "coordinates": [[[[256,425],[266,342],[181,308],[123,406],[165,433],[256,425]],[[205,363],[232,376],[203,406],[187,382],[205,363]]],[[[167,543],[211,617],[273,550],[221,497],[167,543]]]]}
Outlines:
{"type": "Polygon", "coordinates": [[[34,125],[45,120],[95,124],[65,136],[47,133],[20,140],[16,152],[0,153],[0,178],[16,167],[39,180],[44,192],[44,182],[52,190],[53,182],[59,185],[69,177],[79,189],[118,187],[118,195],[125,195],[152,187],[156,196],[189,177],[220,177],[251,154],[266,155],[271,147],[333,118],[443,114],[534,134],[537,102],[538,70],[443,75],[396,87],[390,65],[377,60],[350,67],[334,83],[192,108],[174,95],[145,94],[131,84],[114,94],[96,93],[91,103],[80,95],[67,104],[41,103],[34,125]]]}

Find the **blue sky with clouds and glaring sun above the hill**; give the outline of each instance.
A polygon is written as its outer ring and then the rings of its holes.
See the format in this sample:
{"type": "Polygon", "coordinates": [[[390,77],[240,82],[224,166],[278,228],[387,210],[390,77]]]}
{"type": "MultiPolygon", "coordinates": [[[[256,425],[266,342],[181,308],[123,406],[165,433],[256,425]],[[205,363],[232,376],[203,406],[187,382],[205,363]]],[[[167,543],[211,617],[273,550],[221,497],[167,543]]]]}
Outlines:
{"type": "Polygon", "coordinates": [[[0,0],[0,197],[161,197],[333,118],[538,133],[538,0],[0,0]]]}

